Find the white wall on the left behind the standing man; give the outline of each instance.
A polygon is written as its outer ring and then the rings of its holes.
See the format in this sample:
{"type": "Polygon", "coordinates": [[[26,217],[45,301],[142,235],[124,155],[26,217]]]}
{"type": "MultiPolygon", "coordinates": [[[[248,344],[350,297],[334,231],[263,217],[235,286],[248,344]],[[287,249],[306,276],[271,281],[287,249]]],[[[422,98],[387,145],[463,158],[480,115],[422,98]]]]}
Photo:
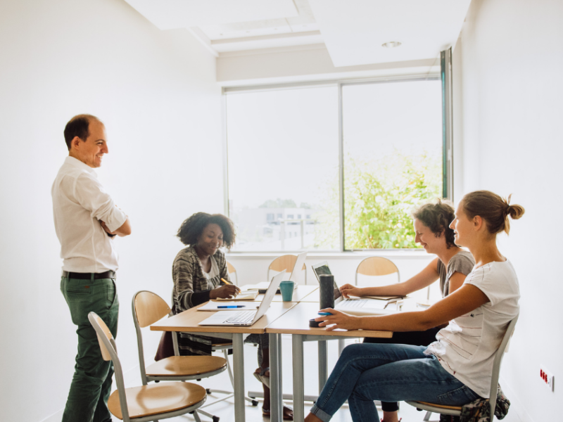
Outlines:
{"type": "Polygon", "coordinates": [[[136,371],[133,293],[169,298],[182,220],[223,209],[220,104],[215,57],[125,1],[0,2],[3,421],[60,421],[72,377],[77,340],[59,291],[50,195],[68,154],[66,122],[91,113],[106,123],[98,174],[133,229],[117,241],[118,345],[136,371]]]}

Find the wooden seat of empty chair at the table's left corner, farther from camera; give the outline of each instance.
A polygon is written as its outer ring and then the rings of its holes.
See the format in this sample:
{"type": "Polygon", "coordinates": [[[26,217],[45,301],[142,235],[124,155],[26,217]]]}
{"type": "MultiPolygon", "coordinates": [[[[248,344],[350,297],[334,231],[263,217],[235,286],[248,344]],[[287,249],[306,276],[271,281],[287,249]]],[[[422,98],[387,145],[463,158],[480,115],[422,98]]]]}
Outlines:
{"type": "Polygon", "coordinates": [[[227,368],[218,356],[171,356],[146,368],[147,376],[195,376],[227,368]]]}

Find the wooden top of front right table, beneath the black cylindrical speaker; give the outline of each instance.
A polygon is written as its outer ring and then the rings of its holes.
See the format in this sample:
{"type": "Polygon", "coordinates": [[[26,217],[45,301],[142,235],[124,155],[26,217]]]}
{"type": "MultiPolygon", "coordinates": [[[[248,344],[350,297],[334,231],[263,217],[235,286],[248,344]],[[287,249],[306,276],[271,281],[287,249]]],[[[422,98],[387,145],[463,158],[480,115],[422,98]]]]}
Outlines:
{"type": "Polygon", "coordinates": [[[318,302],[300,302],[291,311],[279,316],[266,327],[266,333],[303,334],[303,335],[334,335],[337,337],[379,337],[391,338],[393,331],[327,331],[324,327],[311,328],[309,320],[316,318],[319,312],[318,302]]]}

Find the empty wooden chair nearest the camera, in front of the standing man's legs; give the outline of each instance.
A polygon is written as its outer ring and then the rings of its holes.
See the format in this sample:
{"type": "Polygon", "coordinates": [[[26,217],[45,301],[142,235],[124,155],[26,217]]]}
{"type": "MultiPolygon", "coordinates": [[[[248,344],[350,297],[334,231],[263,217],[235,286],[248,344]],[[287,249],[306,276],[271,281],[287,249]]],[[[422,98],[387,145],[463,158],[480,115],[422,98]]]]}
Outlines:
{"type": "Polygon", "coordinates": [[[122,421],[148,422],[193,413],[201,422],[196,409],[205,403],[205,388],[193,383],[164,383],[125,388],[123,370],[115,339],[106,323],[95,314],[88,314],[90,324],[98,334],[103,360],[111,360],[118,389],[108,399],[108,409],[122,421]]]}

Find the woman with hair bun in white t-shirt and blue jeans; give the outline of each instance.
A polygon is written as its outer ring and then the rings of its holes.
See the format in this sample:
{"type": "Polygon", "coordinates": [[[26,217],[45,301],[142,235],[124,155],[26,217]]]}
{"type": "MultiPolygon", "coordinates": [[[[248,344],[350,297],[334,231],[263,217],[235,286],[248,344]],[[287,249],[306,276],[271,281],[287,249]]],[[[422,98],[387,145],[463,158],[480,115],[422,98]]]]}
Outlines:
{"type": "MultiPolygon", "coordinates": [[[[327,330],[423,331],[448,324],[426,346],[355,344],[346,347],[305,418],[328,422],[348,400],[353,421],[377,421],[374,400],[415,400],[462,406],[488,398],[493,357],[510,321],[519,313],[514,267],[497,248],[496,235],[510,231],[508,217],[524,215],[520,205],[489,191],[464,196],[450,224],[455,244],[472,252],[475,267],[463,285],[419,312],[353,316],[335,309],[320,316],[327,330]]],[[[384,422],[397,420],[386,415],[384,422]]]]}

